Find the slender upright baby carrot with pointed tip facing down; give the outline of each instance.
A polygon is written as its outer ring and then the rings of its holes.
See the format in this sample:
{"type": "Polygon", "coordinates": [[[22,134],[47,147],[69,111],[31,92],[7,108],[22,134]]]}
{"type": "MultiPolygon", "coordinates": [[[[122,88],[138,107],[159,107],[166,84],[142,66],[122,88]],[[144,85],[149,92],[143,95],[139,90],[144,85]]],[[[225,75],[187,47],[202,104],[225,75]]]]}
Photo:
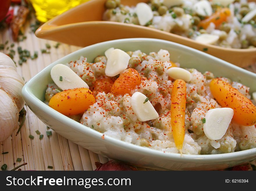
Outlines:
{"type": "Polygon", "coordinates": [[[185,136],[186,82],[175,80],[171,97],[171,126],[178,150],[182,149],[185,136]]]}

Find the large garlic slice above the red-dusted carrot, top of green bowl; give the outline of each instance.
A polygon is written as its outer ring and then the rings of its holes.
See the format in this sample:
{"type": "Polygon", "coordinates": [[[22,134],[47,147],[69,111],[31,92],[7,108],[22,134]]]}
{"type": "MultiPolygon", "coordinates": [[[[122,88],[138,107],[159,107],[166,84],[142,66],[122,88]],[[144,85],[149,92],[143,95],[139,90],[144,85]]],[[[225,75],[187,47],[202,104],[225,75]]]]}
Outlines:
{"type": "Polygon", "coordinates": [[[114,49],[109,54],[109,58],[107,60],[105,74],[107,76],[116,76],[124,71],[130,60],[129,54],[120,49],[114,49]]]}

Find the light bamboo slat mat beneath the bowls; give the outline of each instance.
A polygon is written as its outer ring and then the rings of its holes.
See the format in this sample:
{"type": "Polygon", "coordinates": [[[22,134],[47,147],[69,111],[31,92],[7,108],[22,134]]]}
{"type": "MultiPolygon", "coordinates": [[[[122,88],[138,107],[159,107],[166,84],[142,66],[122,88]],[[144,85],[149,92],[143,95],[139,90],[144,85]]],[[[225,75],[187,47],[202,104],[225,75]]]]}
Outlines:
{"type": "MultiPolygon", "coordinates": [[[[56,42],[37,38],[34,33],[31,32],[29,25],[30,23],[27,23],[24,27],[24,35],[26,35],[27,39],[15,43],[13,47],[16,51],[14,56],[16,62],[19,60],[17,53],[18,46],[22,47],[22,49],[29,50],[31,53],[38,51],[37,59],[28,59],[22,66],[17,64],[17,71],[24,78],[25,82],[52,62],[81,48],[61,44],[58,49],[56,49],[54,48],[56,42]],[[46,49],[46,43],[51,45],[51,52],[42,54],[41,49],[46,49]]],[[[11,31],[1,31],[0,44],[5,43],[7,40],[9,41],[9,45],[13,43],[11,31]]],[[[8,53],[8,51],[4,50],[4,53],[8,53]]],[[[256,64],[246,69],[256,73],[256,64]]],[[[74,144],[54,131],[47,130],[46,125],[41,122],[28,107],[25,106],[25,109],[27,111],[26,121],[19,135],[15,136],[17,132],[16,129],[7,140],[0,142],[0,166],[5,163],[8,165],[7,170],[10,170],[26,162],[28,164],[22,166],[22,170],[94,170],[96,168],[96,161],[105,163],[109,160],[108,158],[97,155],[74,144]],[[36,130],[44,135],[42,140],[40,140],[39,135],[35,133],[36,130]],[[51,131],[52,135],[47,136],[46,131],[51,131]],[[29,138],[30,134],[35,137],[33,140],[29,138]],[[2,154],[4,152],[8,153],[2,154]],[[22,161],[16,162],[17,158],[22,158],[22,161]],[[48,168],[48,166],[52,166],[53,169],[48,168]]],[[[138,167],[138,170],[151,169],[138,167]]]]}

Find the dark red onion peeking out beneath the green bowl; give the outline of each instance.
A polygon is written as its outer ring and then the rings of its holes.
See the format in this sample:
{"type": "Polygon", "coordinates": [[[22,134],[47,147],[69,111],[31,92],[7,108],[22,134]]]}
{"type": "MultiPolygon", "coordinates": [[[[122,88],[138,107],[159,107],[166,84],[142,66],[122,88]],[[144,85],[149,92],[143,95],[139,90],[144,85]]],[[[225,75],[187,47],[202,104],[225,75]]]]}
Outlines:
{"type": "Polygon", "coordinates": [[[127,171],[127,170],[137,170],[135,167],[125,164],[125,163],[120,163],[116,162],[113,160],[110,160],[107,163],[99,163],[95,162],[96,169],[95,171],[127,171]]]}

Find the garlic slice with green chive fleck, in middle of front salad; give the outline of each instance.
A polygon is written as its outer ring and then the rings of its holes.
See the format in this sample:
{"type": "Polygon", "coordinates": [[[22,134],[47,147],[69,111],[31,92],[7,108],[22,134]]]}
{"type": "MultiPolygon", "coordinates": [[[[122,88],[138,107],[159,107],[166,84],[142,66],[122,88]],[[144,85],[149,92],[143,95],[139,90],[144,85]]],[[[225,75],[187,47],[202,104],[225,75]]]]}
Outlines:
{"type": "Polygon", "coordinates": [[[148,98],[141,92],[135,92],[131,96],[131,106],[135,115],[141,122],[157,119],[159,117],[154,106],[152,106],[148,98]]]}

